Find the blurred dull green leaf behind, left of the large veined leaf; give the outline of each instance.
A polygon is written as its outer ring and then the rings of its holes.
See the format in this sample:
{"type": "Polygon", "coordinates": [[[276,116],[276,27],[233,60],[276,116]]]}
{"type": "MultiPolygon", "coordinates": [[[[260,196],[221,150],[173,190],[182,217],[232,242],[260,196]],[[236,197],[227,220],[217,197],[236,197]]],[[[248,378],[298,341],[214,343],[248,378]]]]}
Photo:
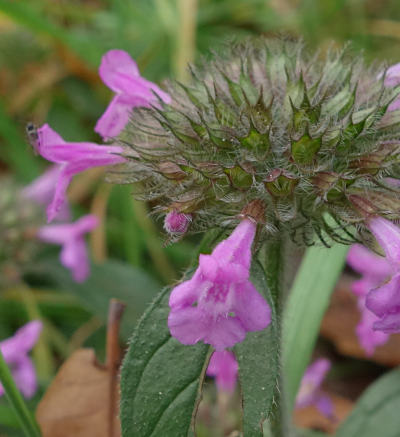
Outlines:
{"type": "Polygon", "coordinates": [[[127,339],[133,323],[143,314],[161,286],[140,269],[120,261],[93,264],[89,278],[75,282],[71,273],[58,260],[47,260],[35,265],[30,273],[45,275],[58,289],[75,295],[82,304],[102,320],[107,320],[111,298],[119,299],[127,307],[122,319],[121,335],[127,339]]]}

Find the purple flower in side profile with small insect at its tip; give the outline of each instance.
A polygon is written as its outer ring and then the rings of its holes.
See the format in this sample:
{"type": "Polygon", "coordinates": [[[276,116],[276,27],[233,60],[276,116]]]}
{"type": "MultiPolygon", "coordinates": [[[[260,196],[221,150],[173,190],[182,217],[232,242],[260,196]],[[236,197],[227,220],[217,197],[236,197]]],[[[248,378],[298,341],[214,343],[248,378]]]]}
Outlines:
{"type": "Polygon", "coordinates": [[[37,151],[43,158],[58,164],[54,195],[47,207],[47,219],[51,222],[65,202],[66,191],[72,177],[88,168],[125,162],[118,155],[122,147],[100,146],[94,143],[66,143],[47,124],[38,129],[37,151]]]}

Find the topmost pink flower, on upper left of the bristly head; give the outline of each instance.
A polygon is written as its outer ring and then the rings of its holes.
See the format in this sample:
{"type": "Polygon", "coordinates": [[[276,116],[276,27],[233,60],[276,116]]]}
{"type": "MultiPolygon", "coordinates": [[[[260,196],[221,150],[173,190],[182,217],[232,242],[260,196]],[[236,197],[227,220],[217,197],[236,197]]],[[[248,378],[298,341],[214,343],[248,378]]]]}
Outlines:
{"type": "Polygon", "coordinates": [[[110,50],[103,56],[99,75],[116,93],[94,129],[104,139],[115,137],[121,132],[134,107],[157,104],[157,96],[165,103],[171,101],[167,93],[140,76],[136,62],[123,50],[110,50]]]}

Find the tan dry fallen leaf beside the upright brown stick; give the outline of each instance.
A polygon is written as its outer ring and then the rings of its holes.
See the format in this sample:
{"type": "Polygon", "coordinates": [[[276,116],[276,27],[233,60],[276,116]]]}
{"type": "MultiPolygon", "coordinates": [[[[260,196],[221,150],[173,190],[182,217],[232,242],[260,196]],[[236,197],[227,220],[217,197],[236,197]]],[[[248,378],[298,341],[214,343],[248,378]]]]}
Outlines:
{"type": "MultiPolygon", "coordinates": [[[[97,363],[92,349],[78,349],[61,366],[37,408],[43,437],[110,437],[111,398],[108,370],[97,363]]],[[[118,417],[113,422],[112,435],[119,437],[118,417]]]]}

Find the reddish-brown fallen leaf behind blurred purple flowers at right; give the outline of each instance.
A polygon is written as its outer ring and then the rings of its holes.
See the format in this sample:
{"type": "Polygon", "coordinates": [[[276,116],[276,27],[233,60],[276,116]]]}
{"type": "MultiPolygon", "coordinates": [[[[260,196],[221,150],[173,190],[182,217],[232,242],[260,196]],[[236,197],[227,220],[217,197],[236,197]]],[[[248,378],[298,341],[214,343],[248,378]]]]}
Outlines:
{"type": "Polygon", "coordinates": [[[322,324],[321,335],[334,343],[336,349],[344,355],[365,358],[386,366],[400,364],[400,335],[393,334],[389,341],[378,346],[372,357],[368,357],[358,342],[355,333],[360,320],[357,308],[357,297],[351,292],[350,286],[355,278],[343,275],[335,292],[322,324]]]}

